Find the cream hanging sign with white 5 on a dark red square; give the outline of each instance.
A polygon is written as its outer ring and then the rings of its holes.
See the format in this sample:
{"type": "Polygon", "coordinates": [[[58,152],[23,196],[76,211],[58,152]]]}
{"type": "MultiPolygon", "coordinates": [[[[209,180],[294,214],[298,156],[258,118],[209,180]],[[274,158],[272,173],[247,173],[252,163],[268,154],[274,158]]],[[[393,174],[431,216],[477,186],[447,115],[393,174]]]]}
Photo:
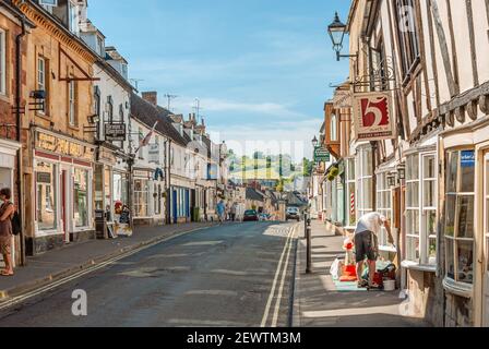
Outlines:
{"type": "Polygon", "coordinates": [[[358,141],[380,141],[396,137],[389,93],[355,94],[355,134],[358,141]]]}

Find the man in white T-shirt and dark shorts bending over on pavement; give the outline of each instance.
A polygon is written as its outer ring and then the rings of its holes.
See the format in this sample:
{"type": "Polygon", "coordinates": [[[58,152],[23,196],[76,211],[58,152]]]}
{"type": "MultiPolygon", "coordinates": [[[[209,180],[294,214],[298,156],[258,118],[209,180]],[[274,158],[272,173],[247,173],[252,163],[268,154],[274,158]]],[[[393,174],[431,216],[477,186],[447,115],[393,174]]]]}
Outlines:
{"type": "Polygon", "coordinates": [[[380,288],[373,281],[377,269],[377,260],[379,258],[379,233],[382,227],[385,228],[389,234],[389,243],[394,243],[392,237],[391,225],[389,220],[379,213],[370,213],[360,218],[355,230],[355,250],[357,262],[357,279],[358,287],[365,288],[380,288]],[[365,260],[369,266],[369,281],[362,280],[365,260]]]}

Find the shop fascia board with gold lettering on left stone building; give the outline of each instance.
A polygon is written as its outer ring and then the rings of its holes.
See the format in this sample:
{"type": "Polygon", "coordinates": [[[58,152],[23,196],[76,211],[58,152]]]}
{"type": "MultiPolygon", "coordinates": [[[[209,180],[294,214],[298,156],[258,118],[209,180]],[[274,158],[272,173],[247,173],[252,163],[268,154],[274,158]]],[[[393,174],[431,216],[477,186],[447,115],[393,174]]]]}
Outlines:
{"type": "Polygon", "coordinates": [[[39,131],[36,133],[36,148],[77,159],[93,160],[94,152],[91,147],[39,131]]]}

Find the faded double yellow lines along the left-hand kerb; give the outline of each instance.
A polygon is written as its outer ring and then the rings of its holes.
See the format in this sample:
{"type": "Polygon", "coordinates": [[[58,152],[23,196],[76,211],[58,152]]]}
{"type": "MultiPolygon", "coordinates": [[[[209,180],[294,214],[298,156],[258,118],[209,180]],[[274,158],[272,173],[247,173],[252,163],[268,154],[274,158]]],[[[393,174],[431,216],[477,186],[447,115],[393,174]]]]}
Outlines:
{"type": "MultiPolygon", "coordinates": [[[[198,228],[198,229],[193,229],[193,230],[189,230],[189,231],[182,231],[182,232],[176,233],[175,236],[171,236],[171,237],[168,237],[168,238],[155,241],[153,243],[150,243],[147,245],[138,248],[138,249],[135,249],[133,251],[126,252],[126,253],[123,253],[121,255],[118,255],[118,256],[116,256],[114,258],[110,258],[110,260],[108,260],[106,262],[102,262],[100,264],[94,264],[93,266],[86,268],[85,270],[82,270],[82,272],[75,273],[73,275],[67,276],[65,278],[59,279],[58,281],[55,281],[52,284],[46,285],[44,287],[40,287],[40,288],[38,288],[36,290],[29,291],[27,293],[17,296],[15,298],[12,298],[10,300],[7,300],[7,301],[2,302],[2,303],[0,303],[0,311],[4,310],[4,309],[8,309],[8,308],[11,308],[12,305],[22,303],[22,302],[24,302],[24,301],[26,301],[26,300],[28,300],[28,299],[31,299],[33,297],[36,297],[36,296],[43,294],[43,293],[45,293],[47,291],[50,291],[52,289],[56,289],[56,288],[58,288],[58,287],[60,287],[60,286],[62,286],[64,284],[68,284],[68,282],[73,281],[73,280],[76,280],[76,279],[79,279],[79,278],[81,278],[81,277],[83,277],[85,275],[88,275],[88,274],[92,274],[92,273],[94,273],[96,270],[105,268],[106,266],[114,265],[115,262],[121,261],[121,260],[127,258],[127,257],[129,257],[131,255],[138,254],[138,253],[140,253],[142,251],[145,251],[145,250],[148,250],[148,249],[151,249],[151,248],[153,248],[155,245],[168,242],[170,240],[177,239],[177,238],[186,236],[186,234],[190,234],[190,233],[193,233],[193,232],[206,230],[206,229],[210,229],[210,228],[213,228],[213,227],[205,227],[205,228],[198,228]]],[[[3,294],[3,296],[8,296],[8,294],[3,294]]],[[[5,297],[3,297],[3,298],[5,298],[5,297]]]]}

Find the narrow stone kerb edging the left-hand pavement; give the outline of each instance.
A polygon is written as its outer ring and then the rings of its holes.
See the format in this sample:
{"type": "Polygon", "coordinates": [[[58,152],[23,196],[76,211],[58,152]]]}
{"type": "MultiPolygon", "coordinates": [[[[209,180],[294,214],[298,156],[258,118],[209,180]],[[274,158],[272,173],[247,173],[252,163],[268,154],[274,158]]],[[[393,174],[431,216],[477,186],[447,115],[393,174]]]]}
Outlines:
{"type": "Polygon", "coordinates": [[[129,253],[129,252],[142,249],[144,246],[148,246],[148,245],[152,245],[152,244],[155,244],[155,243],[158,243],[158,242],[163,242],[163,241],[169,240],[171,238],[177,238],[177,237],[180,237],[180,236],[183,236],[183,234],[189,234],[189,233],[192,233],[192,232],[195,232],[195,231],[210,229],[210,228],[213,228],[213,227],[216,227],[216,226],[217,225],[210,225],[210,226],[204,226],[204,227],[200,227],[200,228],[194,228],[194,229],[191,229],[191,230],[172,231],[172,232],[170,232],[168,234],[165,234],[165,236],[160,236],[160,237],[157,237],[157,238],[154,238],[154,239],[151,239],[151,240],[146,240],[146,241],[141,241],[139,243],[135,243],[135,244],[132,244],[132,245],[119,249],[119,250],[117,250],[115,252],[111,252],[111,253],[98,256],[96,258],[86,261],[84,263],[81,263],[77,266],[69,267],[69,268],[67,268],[67,269],[64,269],[62,272],[59,272],[59,273],[56,273],[56,274],[51,274],[51,275],[48,275],[46,277],[41,277],[41,278],[38,278],[36,280],[33,280],[33,281],[24,282],[21,286],[15,286],[15,287],[7,289],[7,290],[0,290],[0,305],[3,302],[7,302],[7,301],[9,301],[10,299],[12,299],[14,297],[20,297],[20,296],[22,296],[24,293],[35,291],[38,288],[41,288],[41,287],[45,287],[45,286],[49,286],[51,282],[55,282],[55,281],[58,281],[60,279],[67,278],[67,277],[72,276],[72,275],[74,275],[76,273],[80,273],[80,272],[83,272],[83,270],[87,270],[87,269],[90,269],[90,267],[93,267],[93,266],[95,266],[97,264],[102,264],[104,262],[110,261],[111,258],[120,256],[120,255],[122,255],[124,253],[129,253]]]}

